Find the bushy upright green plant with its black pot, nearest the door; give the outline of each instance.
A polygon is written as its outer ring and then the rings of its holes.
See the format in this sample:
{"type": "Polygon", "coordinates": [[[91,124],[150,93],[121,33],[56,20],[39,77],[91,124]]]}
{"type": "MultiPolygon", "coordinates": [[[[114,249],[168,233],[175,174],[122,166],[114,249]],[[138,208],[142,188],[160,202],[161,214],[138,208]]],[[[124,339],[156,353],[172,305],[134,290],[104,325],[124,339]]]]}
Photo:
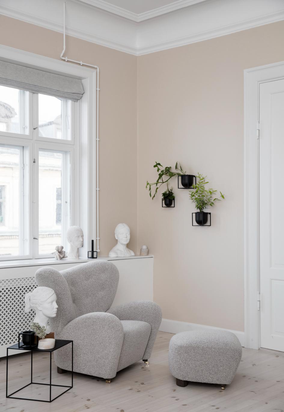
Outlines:
{"type": "Polygon", "coordinates": [[[193,185],[193,190],[189,192],[190,199],[198,210],[198,212],[195,213],[195,221],[198,225],[201,226],[205,225],[208,220],[208,212],[204,212],[204,209],[208,208],[209,206],[214,206],[215,201],[225,199],[223,193],[220,192],[219,197],[214,197],[216,196],[215,193],[217,192],[217,190],[206,189],[205,185],[209,183],[205,181],[206,177],[207,176],[203,176],[202,174],[198,173],[198,181],[196,185],[193,185]]]}

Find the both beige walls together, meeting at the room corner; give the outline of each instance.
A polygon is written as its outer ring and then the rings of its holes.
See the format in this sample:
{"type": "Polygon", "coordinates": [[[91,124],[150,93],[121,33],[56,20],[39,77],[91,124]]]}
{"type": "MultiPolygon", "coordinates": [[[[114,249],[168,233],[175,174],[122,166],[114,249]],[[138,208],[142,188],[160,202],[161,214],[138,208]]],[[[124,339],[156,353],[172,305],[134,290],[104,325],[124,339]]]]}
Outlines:
{"type": "MultiPolygon", "coordinates": [[[[282,21],[138,58],[67,38],[70,58],[100,66],[102,254],[116,223],[127,222],[130,248],[145,243],[155,255],[154,299],[164,318],[244,328],[243,70],[284,60],[283,33],[282,21]],[[161,193],[150,200],[155,161],[180,161],[225,193],[212,227],[191,226],[194,208],[176,181],[175,209],[161,208],[161,193]]],[[[62,37],[0,16],[2,44],[58,59],[62,37]]]]}

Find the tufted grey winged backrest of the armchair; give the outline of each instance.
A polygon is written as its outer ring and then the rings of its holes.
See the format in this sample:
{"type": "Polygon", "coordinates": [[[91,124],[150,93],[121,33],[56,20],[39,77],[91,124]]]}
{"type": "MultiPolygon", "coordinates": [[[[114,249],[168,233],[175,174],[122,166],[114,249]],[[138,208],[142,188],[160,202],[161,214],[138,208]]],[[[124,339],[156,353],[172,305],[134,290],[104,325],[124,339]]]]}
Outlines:
{"type": "Polygon", "coordinates": [[[38,286],[52,288],[57,297],[57,315],[49,319],[56,332],[78,316],[106,312],[116,294],[119,271],[107,260],[82,263],[59,272],[51,267],[38,269],[38,286]]]}

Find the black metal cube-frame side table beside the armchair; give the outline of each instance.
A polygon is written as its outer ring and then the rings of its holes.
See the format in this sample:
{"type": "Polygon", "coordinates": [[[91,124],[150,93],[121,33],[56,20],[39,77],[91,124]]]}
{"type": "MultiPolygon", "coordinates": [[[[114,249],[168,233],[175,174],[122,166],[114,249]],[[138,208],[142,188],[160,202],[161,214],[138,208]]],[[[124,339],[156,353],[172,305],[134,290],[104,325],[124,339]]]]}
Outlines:
{"type": "Polygon", "coordinates": [[[69,389],[73,388],[73,341],[72,340],[63,340],[63,339],[56,339],[55,340],[55,346],[53,349],[38,349],[37,345],[36,346],[20,346],[16,343],[15,345],[9,346],[9,348],[7,348],[7,363],[6,363],[6,398],[12,398],[12,399],[23,399],[23,400],[37,400],[40,402],[52,402],[54,399],[58,398],[59,396],[63,395],[63,393],[69,391],[69,389]],[[65,345],[68,344],[72,344],[72,383],[71,386],[67,386],[67,385],[55,385],[55,384],[51,384],[51,353],[56,351],[59,348],[62,348],[65,345]],[[23,350],[23,351],[30,351],[31,354],[31,358],[30,358],[30,367],[31,367],[31,373],[30,373],[30,383],[23,386],[20,389],[17,389],[16,391],[14,391],[13,393],[10,393],[10,395],[8,395],[8,350],[9,349],[16,349],[16,350],[23,350]],[[49,352],[50,353],[50,361],[49,361],[49,384],[43,384],[43,383],[39,383],[39,382],[33,382],[33,352],[49,352]],[[21,391],[22,389],[26,388],[26,386],[32,385],[32,384],[37,384],[37,385],[47,385],[49,386],[49,400],[42,400],[42,399],[30,399],[30,398],[17,398],[14,395],[14,393],[21,391]],[[60,393],[60,395],[56,396],[55,398],[51,399],[51,386],[61,386],[62,388],[67,388],[65,389],[65,391],[63,391],[62,393],[60,393]]]}

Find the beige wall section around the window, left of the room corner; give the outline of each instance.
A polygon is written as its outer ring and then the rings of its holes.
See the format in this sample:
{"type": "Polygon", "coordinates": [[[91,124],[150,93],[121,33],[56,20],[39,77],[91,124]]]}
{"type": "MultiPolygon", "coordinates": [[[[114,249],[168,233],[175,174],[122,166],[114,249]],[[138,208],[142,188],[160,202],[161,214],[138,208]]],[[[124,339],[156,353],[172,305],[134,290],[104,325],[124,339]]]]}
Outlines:
{"type": "MultiPolygon", "coordinates": [[[[0,44],[60,59],[63,35],[0,15],[0,44]]],[[[119,222],[136,252],[137,57],[70,36],[66,46],[70,59],[100,67],[100,254],[114,246],[119,222]]]]}

